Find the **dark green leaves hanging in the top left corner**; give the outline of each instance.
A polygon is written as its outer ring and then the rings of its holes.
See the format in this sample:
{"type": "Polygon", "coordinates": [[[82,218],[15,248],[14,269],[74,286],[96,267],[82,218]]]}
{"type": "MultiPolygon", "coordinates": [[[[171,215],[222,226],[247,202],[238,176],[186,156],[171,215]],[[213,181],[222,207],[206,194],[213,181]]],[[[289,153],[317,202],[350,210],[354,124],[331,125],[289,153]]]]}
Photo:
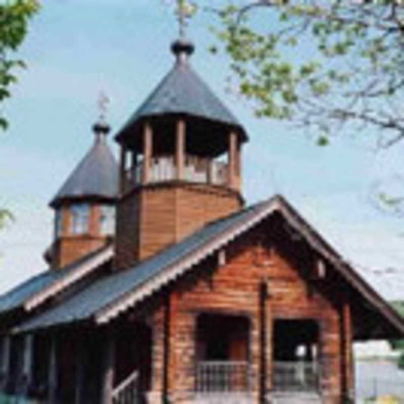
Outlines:
{"type": "MultiPolygon", "coordinates": [[[[28,20],[38,8],[36,0],[6,0],[0,4],[0,103],[10,97],[10,85],[17,81],[15,68],[25,67],[15,52],[27,33],[28,20]]],[[[0,127],[7,126],[6,118],[0,114],[0,127]]]]}

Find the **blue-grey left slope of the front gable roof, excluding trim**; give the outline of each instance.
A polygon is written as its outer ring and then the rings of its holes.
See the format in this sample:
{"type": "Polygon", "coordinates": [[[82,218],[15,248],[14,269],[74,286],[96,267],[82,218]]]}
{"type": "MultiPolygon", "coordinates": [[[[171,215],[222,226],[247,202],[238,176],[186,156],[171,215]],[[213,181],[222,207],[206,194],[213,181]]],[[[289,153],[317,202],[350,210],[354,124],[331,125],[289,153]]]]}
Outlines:
{"type": "Polygon", "coordinates": [[[59,306],[23,323],[18,327],[18,331],[46,328],[91,318],[96,312],[110,305],[123,294],[155,277],[170,264],[198,249],[216,235],[243,222],[260,206],[261,204],[250,207],[226,219],[213,222],[184,241],[168,247],[137,266],[96,281],[63,301],[59,306]]]}

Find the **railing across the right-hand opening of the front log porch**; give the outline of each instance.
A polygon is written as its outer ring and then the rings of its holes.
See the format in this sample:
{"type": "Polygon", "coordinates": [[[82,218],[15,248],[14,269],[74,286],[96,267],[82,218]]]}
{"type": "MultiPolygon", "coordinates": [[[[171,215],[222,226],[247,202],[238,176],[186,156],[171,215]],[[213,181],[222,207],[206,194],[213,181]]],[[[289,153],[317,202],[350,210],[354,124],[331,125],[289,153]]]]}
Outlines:
{"type": "Polygon", "coordinates": [[[273,389],[276,391],[318,391],[320,368],[316,362],[274,362],[273,389]]]}

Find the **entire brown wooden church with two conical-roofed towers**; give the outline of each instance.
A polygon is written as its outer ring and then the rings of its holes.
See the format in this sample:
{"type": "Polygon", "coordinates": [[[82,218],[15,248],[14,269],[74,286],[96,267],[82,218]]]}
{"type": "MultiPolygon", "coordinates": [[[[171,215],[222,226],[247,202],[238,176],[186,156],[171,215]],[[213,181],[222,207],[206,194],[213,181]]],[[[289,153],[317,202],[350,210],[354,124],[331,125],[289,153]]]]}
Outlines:
{"type": "Polygon", "coordinates": [[[354,402],[352,342],[404,335],[282,196],[244,206],[248,136],[193,50],[52,199],[49,269],[0,297],[4,402],[354,402]]]}

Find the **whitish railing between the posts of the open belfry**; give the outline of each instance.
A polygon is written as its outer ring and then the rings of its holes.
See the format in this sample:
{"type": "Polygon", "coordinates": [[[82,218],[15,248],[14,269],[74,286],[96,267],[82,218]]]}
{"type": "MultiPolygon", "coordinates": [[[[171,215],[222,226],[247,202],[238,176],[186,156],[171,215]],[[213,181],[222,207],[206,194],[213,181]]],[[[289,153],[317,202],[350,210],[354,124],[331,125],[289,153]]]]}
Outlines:
{"type": "MultiPolygon", "coordinates": [[[[209,158],[185,156],[183,179],[190,182],[226,185],[228,181],[227,164],[209,158]]],[[[128,190],[142,182],[143,163],[126,170],[125,189],[128,190]]],[[[154,157],[150,161],[149,181],[163,182],[177,178],[177,168],[173,156],[154,157]]]]}

